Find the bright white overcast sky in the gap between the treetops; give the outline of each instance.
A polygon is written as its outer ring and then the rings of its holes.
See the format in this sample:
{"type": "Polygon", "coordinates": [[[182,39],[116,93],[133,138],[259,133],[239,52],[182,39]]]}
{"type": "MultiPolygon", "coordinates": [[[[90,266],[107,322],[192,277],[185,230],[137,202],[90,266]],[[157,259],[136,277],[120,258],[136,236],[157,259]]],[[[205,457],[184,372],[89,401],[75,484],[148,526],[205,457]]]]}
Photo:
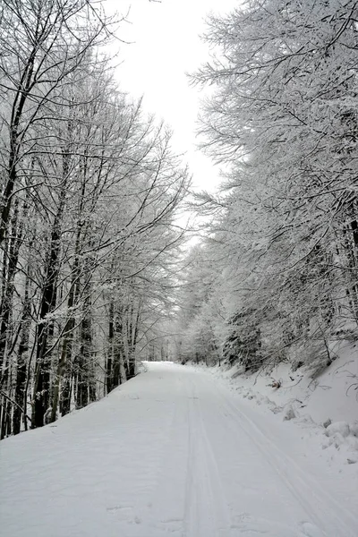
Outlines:
{"type": "Polygon", "coordinates": [[[119,13],[130,9],[131,23],[119,32],[120,38],[132,43],[122,47],[124,63],[117,68],[122,89],[136,98],[144,95],[145,109],[174,131],[174,149],[185,152],[193,185],[213,190],[219,170],[196,149],[200,91],[189,85],[185,73],[209,58],[208,46],[199,37],[207,13],[227,13],[240,0],[109,1],[119,13]]]}

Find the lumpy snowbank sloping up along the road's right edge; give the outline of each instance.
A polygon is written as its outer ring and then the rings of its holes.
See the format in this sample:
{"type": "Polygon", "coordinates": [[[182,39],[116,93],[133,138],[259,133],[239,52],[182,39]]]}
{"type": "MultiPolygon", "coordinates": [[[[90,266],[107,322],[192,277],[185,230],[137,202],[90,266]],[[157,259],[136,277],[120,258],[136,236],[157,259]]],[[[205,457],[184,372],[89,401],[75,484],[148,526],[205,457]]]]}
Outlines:
{"type": "Polygon", "coordinates": [[[341,342],[333,352],[337,360],[316,379],[305,369],[292,371],[289,362],[248,376],[236,365],[209,371],[244,399],[293,421],[328,465],[357,463],[358,481],[358,348],[341,342]]]}

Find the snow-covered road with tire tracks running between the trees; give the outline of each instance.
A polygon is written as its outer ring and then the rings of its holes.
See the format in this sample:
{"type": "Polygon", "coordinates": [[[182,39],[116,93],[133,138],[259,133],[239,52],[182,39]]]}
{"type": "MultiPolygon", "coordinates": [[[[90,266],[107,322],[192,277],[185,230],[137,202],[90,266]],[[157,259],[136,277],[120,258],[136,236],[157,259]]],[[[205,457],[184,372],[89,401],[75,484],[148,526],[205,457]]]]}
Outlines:
{"type": "Polygon", "coordinates": [[[0,443],[3,537],[357,537],[300,431],[171,363],[0,443]]]}

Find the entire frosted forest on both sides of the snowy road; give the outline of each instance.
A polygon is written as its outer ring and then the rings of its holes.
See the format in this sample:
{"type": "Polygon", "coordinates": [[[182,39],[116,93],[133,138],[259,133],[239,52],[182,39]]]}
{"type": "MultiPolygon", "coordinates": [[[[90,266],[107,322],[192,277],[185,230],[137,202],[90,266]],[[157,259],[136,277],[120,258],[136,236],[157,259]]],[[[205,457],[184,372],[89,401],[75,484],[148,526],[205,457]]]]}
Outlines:
{"type": "Polygon", "coordinates": [[[3,0],[0,27],[1,439],[143,359],[314,376],[358,339],[354,0],[210,16],[191,81],[210,87],[215,194],[191,192],[170,130],[115,81],[102,4],[3,0]]]}

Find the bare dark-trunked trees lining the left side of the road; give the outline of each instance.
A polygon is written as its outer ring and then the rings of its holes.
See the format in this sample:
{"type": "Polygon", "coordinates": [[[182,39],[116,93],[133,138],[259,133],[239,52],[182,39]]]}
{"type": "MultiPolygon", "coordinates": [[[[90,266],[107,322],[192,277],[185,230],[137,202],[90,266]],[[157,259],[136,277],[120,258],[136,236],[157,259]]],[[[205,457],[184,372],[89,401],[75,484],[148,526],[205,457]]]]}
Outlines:
{"type": "Polygon", "coordinates": [[[0,6],[1,438],[130,379],[171,311],[170,133],[114,79],[89,0],[0,6]]]}

